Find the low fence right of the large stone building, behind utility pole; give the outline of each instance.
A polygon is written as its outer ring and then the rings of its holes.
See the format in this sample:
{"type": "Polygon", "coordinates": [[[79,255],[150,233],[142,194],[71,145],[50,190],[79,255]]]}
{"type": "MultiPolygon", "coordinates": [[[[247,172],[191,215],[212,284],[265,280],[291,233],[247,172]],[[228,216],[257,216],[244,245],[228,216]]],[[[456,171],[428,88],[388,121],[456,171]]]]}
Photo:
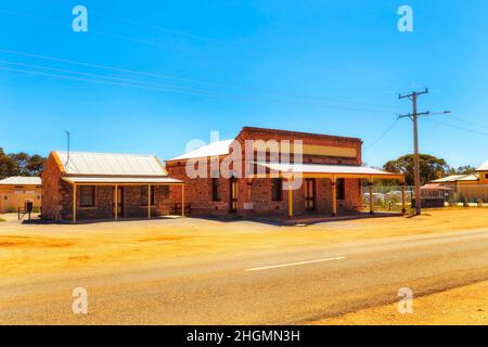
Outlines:
{"type": "MultiPolygon", "coordinates": [[[[364,210],[370,206],[370,192],[362,187],[362,206],[364,210]]],[[[438,188],[421,190],[423,207],[488,207],[488,185],[472,184],[453,188],[438,188]]],[[[373,206],[380,211],[401,211],[401,187],[374,187],[373,206]]],[[[406,208],[415,206],[413,187],[406,187],[406,208]]]]}

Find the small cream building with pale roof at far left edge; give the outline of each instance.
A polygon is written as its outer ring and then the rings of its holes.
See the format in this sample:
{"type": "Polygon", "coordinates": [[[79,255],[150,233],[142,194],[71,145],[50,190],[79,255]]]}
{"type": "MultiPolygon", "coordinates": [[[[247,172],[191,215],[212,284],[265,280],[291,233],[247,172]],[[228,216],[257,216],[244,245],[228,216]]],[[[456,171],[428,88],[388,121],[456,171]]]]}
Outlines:
{"type": "Polygon", "coordinates": [[[40,177],[9,177],[0,180],[0,214],[14,213],[26,203],[33,203],[35,208],[41,207],[40,177]]]}

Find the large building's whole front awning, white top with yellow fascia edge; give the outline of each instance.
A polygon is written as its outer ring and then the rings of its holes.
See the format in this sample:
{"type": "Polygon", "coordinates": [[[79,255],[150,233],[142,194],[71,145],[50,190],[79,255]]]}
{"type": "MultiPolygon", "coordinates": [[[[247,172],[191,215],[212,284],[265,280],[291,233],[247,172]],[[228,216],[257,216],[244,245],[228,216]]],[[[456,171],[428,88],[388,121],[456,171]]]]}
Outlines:
{"type": "Polygon", "coordinates": [[[323,177],[323,178],[382,178],[403,179],[402,174],[391,174],[370,167],[354,165],[328,165],[328,164],[282,164],[282,163],[256,163],[271,172],[280,172],[283,176],[323,177]]]}

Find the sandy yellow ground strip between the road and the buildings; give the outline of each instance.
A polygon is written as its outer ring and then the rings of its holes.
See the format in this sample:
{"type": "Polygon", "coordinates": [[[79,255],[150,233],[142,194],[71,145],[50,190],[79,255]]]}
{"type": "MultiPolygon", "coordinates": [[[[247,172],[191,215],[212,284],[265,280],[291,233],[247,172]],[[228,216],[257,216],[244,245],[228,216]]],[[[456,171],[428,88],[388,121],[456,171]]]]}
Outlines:
{"type": "Polygon", "coordinates": [[[364,239],[486,228],[486,209],[427,210],[391,217],[274,227],[249,221],[203,219],[120,221],[92,224],[0,227],[0,278],[72,272],[253,249],[330,245],[364,239]]]}

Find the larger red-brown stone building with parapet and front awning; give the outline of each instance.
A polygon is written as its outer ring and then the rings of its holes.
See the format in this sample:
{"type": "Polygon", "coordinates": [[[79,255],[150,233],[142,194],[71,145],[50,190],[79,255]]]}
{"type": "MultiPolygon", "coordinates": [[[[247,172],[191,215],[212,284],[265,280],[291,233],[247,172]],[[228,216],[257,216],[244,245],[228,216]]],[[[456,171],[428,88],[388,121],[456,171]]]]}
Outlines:
{"type": "MultiPolygon", "coordinates": [[[[403,183],[402,175],[362,167],[361,144],[357,138],[244,127],[235,139],[166,160],[166,168],[171,177],[185,182],[192,215],[336,216],[361,209],[363,181],[370,183],[371,194],[375,179],[403,183]],[[301,158],[294,156],[298,145],[301,158]],[[246,154],[254,159],[246,159],[246,154]],[[228,165],[230,157],[236,159],[228,165]],[[231,174],[216,175],[222,167],[229,167],[231,174]],[[188,168],[201,175],[192,177],[188,168]],[[286,189],[287,183],[297,181],[298,185],[286,189]]],[[[171,189],[172,198],[180,194],[181,187],[171,189]]],[[[372,213],[372,204],[370,209],[372,213]]]]}

